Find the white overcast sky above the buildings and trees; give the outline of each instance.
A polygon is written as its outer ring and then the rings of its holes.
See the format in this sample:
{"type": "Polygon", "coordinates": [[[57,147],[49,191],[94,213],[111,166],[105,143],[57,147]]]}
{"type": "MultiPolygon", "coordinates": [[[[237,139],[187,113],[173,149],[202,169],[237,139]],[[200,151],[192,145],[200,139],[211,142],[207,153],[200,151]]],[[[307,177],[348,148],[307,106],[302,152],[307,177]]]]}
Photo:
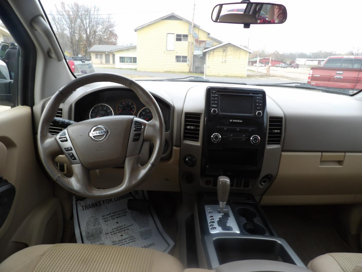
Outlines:
{"type": "MultiPolygon", "coordinates": [[[[55,10],[54,4],[60,0],[41,0],[47,13],[55,10]]],[[[74,0],[64,0],[73,3],[74,0]]],[[[261,1],[266,2],[267,1],[261,1]]],[[[136,44],[134,28],[146,24],[169,13],[176,13],[187,20],[192,20],[194,0],[160,1],[94,1],[77,0],[79,4],[97,5],[102,14],[110,14],[117,24],[118,44],[136,44]]],[[[220,0],[195,0],[195,24],[210,33],[212,37],[224,42],[248,45],[258,50],[265,46],[267,51],[279,52],[314,52],[318,50],[346,53],[353,47],[360,46],[361,18],[359,10],[362,2],[356,0],[282,0],[274,3],[287,8],[288,18],[284,24],[252,25],[244,29],[243,25],[222,24],[211,21],[212,8],[216,4],[227,3],[220,0]],[[342,11],[342,5],[348,12],[342,11]]],[[[269,2],[270,3],[270,2],[269,2]]]]}

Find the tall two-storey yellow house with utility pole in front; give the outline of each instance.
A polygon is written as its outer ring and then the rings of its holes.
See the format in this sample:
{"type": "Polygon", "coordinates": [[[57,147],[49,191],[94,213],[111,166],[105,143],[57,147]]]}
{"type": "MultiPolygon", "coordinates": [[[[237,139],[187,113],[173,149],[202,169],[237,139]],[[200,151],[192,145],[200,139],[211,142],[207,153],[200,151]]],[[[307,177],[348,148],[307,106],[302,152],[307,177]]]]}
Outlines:
{"type": "Polygon", "coordinates": [[[191,24],[185,18],[171,13],[135,28],[137,70],[188,72],[189,65],[192,65],[192,71],[203,73],[205,59],[202,51],[222,41],[211,37],[209,32],[196,24],[191,38],[191,24]],[[191,54],[193,58],[190,64],[191,54]]]}

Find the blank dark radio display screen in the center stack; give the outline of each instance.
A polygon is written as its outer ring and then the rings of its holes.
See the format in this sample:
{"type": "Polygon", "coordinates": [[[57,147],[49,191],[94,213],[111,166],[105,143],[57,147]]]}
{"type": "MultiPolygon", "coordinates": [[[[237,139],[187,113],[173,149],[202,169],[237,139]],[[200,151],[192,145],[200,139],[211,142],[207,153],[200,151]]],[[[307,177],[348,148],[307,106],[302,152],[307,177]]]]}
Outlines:
{"type": "Polygon", "coordinates": [[[220,112],[228,114],[253,114],[252,95],[220,94],[220,112]]]}

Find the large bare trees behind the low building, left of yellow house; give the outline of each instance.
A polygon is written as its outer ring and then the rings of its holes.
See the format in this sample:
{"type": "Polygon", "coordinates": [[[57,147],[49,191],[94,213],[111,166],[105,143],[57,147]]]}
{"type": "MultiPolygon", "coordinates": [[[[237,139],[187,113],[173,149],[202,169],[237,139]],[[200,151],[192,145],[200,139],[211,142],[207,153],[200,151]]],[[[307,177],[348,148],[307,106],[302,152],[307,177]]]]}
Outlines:
{"type": "Polygon", "coordinates": [[[64,51],[85,54],[95,44],[116,45],[118,35],[110,16],[102,16],[96,5],[60,3],[51,14],[52,26],[64,51]]]}

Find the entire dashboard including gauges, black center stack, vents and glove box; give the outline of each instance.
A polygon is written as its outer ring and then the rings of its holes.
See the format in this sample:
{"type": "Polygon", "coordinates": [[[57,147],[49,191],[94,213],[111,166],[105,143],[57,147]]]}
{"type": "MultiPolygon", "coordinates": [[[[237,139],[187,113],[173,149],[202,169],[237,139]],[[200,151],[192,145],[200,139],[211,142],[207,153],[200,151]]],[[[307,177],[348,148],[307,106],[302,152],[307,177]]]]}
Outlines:
{"type": "MultiPolygon", "coordinates": [[[[362,101],[302,88],[139,83],[154,96],[166,125],[164,154],[139,189],[215,191],[223,174],[231,177],[231,191],[251,193],[263,205],[362,202],[362,101]]],[[[46,101],[34,106],[35,117],[46,101]]],[[[105,82],[79,88],[60,109],[73,121],[152,118],[133,91],[105,82]]],[[[92,178],[95,186],[111,187],[122,174],[100,169],[92,178]]]]}

